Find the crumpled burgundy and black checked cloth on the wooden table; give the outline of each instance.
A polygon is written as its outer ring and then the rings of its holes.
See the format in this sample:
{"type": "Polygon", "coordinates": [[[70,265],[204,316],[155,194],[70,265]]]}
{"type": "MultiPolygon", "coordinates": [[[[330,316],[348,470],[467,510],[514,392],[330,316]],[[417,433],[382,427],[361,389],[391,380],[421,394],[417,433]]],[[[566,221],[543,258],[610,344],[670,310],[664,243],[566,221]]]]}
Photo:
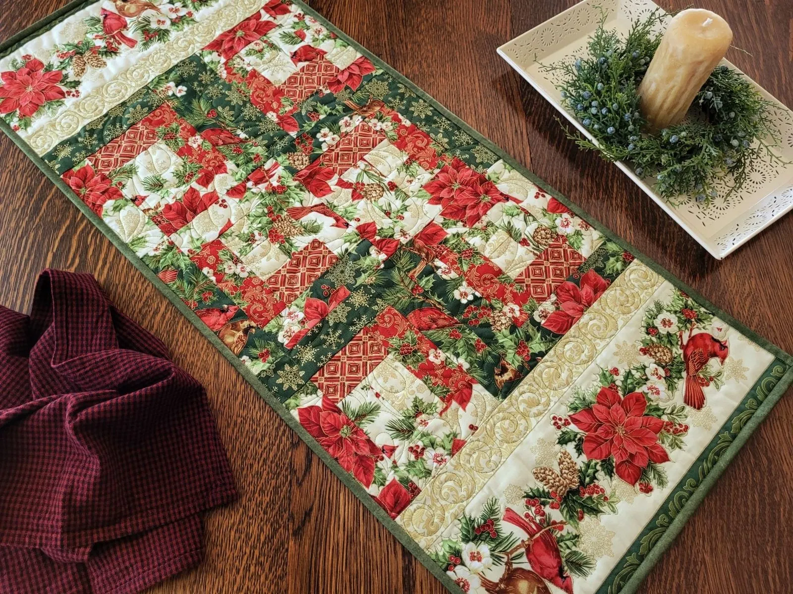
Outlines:
{"type": "Polygon", "coordinates": [[[93,276],[0,307],[0,592],[139,592],[201,560],[232,501],[204,390],[93,276]]]}

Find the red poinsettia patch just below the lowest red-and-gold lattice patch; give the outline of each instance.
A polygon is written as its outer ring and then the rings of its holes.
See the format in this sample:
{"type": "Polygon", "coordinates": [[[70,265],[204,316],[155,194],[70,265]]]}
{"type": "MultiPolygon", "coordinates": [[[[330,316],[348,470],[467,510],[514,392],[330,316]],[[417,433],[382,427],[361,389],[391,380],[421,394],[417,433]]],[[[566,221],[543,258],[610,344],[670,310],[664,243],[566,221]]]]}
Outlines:
{"type": "Polygon", "coordinates": [[[328,398],[322,406],[297,409],[301,425],[324,447],[344,470],[351,473],[365,487],[374,479],[374,465],[383,453],[363,429],[355,425],[328,398]]]}

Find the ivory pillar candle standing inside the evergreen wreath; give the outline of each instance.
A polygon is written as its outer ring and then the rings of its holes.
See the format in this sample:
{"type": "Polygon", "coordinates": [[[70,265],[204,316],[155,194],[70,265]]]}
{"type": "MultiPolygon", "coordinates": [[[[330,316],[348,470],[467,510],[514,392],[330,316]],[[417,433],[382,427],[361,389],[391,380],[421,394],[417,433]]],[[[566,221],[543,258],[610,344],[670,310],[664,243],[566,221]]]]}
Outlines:
{"type": "Polygon", "coordinates": [[[672,18],[638,89],[651,128],[683,121],[732,40],[730,25],[710,10],[683,10],[672,18]]]}

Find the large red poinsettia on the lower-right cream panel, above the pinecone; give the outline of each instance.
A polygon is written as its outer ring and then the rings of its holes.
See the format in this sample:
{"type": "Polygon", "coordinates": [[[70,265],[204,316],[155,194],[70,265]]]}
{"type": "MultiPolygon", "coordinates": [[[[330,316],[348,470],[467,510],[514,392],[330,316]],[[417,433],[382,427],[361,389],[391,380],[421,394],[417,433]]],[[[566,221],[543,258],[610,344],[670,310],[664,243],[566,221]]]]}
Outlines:
{"type": "Polygon", "coordinates": [[[668,462],[669,455],[658,443],[664,421],[645,415],[647,401],[642,392],[619,398],[603,387],[590,409],[570,415],[570,421],[586,432],[584,455],[591,460],[614,458],[619,478],[635,485],[650,461],[668,462]]]}

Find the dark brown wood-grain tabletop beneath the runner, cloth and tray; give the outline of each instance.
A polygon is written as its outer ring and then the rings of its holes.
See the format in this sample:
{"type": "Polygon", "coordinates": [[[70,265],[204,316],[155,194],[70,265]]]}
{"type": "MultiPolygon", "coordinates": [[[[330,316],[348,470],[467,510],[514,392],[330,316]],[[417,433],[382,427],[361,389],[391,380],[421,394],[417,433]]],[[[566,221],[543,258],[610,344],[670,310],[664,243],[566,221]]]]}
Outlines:
{"type": "MultiPolygon", "coordinates": [[[[0,0],[0,38],[65,0],[0,0]]],[[[321,0],[320,13],[607,227],[749,328],[793,352],[793,215],[715,261],[615,166],[565,139],[554,109],[496,47],[574,0],[321,0]]],[[[662,0],[682,9],[690,0],[662,0]]],[[[699,0],[733,26],[728,58],[793,105],[793,2],[699,0]]],[[[151,592],[443,592],[234,368],[10,139],[0,139],[0,303],[29,311],[43,268],[91,272],[206,386],[241,497],[209,514],[198,568],[151,592]]],[[[788,393],[640,592],[791,592],[788,393]]]]}

